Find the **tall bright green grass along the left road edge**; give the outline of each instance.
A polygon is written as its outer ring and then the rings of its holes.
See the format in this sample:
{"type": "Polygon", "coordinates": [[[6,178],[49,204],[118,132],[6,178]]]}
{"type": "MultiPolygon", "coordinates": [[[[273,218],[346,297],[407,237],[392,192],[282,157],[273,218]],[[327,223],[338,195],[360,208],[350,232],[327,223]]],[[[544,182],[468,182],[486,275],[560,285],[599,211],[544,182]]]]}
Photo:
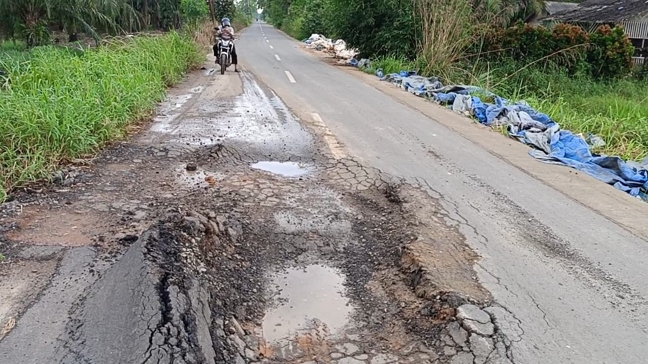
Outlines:
{"type": "Polygon", "coordinates": [[[194,41],[171,32],[0,60],[11,75],[0,90],[0,201],[17,185],[123,137],[202,57],[194,41]]]}

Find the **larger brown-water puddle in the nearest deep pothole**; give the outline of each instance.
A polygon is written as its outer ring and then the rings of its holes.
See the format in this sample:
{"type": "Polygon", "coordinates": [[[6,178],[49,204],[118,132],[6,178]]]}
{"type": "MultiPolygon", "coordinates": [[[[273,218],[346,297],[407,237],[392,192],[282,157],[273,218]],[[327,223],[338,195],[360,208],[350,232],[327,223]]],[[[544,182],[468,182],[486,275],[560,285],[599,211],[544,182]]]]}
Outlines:
{"type": "Polygon", "coordinates": [[[353,313],[344,294],[344,279],[337,269],[319,264],[290,268],[273,277],[279,306],[266,313],[262,321],[265,341],[281,343],[319,323],[325,326],[327,335],[339,333],[353,313]]]}

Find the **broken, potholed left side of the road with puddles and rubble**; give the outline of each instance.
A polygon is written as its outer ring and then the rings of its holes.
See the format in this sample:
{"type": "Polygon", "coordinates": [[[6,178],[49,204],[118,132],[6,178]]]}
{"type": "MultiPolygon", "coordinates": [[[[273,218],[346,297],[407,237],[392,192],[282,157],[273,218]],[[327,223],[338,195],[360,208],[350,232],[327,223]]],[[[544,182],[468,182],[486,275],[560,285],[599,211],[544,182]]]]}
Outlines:
{"type": "Polygon", "coordinates": [[[251,74],[205,71],[132,142],[17,195],[0,355],[515,363],[520,321],[441,205],[309,127],[251,74]]]}

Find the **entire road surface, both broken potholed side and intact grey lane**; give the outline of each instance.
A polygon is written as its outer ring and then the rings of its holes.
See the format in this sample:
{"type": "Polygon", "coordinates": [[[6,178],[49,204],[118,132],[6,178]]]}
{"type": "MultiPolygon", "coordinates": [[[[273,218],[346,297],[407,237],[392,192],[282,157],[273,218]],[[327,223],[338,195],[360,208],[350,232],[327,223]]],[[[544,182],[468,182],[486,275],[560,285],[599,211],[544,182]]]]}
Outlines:
{"type": "Polygon", "coordinates": [[[643,205],[264,23],[237,47],[0,206],[3,363],[644,362],[645,236],[596,203],[643,205]]]}

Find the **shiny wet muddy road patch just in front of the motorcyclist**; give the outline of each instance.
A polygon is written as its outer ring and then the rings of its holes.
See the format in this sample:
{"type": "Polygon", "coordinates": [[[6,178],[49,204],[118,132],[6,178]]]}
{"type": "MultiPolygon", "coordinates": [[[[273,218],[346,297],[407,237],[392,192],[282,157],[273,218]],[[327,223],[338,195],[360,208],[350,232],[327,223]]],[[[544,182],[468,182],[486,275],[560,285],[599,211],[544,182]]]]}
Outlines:
{"type": "Polygon", "coordinates": [[[242,73],[240,77],[244,91],[234,97],[210,97],[218,94],[220,86],[209,84],[169,98],[151,128],[156,134],[153,138],[164,137],[167,142],[188,146],[227,141],[265,154],[280,154],[278,157],[314,154],[312,135],[281,98],[259,85],[250,74],[242,73]],[[190,100],[191,108],[182,108],[190,100]]]}

